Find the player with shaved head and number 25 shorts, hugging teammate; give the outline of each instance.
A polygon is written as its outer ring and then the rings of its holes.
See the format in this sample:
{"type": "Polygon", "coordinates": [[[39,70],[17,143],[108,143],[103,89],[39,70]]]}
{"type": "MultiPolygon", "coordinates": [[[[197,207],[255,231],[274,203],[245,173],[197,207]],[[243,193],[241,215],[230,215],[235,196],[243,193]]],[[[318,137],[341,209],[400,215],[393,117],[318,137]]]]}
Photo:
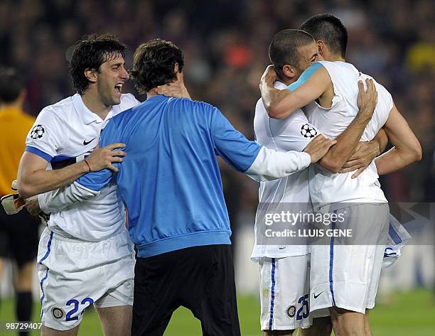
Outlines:
{"type": "MultiPolygon", "coordinates": [[[[278,73],[278,80],[274,86],[276,89],[285,90],[288,85],[296,82],[306,67],[318,58],[321,59],[321,56],[318,55],[316,43],[308,33],[286,29],[272,39],[269,45],[269,58],[278,73]]],[[[328,167],[328,162],[341,160],[340,156],[346,156],[346,153],[355,150],[376,106],[374,85],[369,83],[369,87],[370,90],[367,92],[360,87],[360,112],[334,145],[336,148],[339,147],[340,151],[330,149],[319,161],[321,165],[328,167]]],[[[254,131],[260,144],[278,151],[304,151],[311,139],[318,134],[316,127],[309,123],[301,109],[286,119],[271,119],[264,109],[261,98],[255,107],[254,131]]],[[[376,141],[361,143],[360,146],[367,148],[359,148],[357,154],[361,155],[360,151],[365,151],[365,162],[368,165],[379,155],[380,147],[385,146],[385,139],[386,136],[381,131],[381,134],[376,136],[376,141]]],[[[264,214],[281,211],[291,211],[294,214],[312,212],[308,192],[308,169],[280,180],[260,183],[259,208],[255,223],[256,244],[252,259],[258,261],[260,266],[261,326],[264,335],[292,335],[296,328],[309,327],[312,324],[308,305],[308,242],[293,239],[293,244],[278,244],[278,239],[267,239],[264,235],[267,229],[264,214]]],[[[303,225],[303,222],[298,222],[294,227],[299,229],[303,225]]],[[[315,327],[322,329],[328,324],[328,321],[323,322],[316,319],[315,327]],[[319,323],[322,325],[319,326],[319,323]]],[[[310,335],[317,335],[313,327],[311,332],[315,333],[310,335]]]]}

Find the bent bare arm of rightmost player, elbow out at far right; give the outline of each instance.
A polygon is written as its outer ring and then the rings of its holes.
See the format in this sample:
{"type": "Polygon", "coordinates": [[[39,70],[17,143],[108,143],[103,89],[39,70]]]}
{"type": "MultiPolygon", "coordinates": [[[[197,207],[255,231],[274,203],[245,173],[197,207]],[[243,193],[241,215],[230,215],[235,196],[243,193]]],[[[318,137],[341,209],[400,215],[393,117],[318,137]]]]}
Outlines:
{"type": "Polygon", "coordinates": [[[394,147],[375,160],[379,175],[392,173],[421,160],[419,140],[395,105],[384,129],[394,147]]]}

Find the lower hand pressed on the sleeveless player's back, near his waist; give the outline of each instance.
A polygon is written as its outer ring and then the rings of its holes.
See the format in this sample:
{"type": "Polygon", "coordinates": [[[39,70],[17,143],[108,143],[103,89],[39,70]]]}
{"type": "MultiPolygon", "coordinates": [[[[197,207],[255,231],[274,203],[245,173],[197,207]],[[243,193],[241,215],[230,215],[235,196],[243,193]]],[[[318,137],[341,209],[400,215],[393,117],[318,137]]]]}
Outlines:
{"type": "Polygon", "coordinates": [[[352,178],[358,178],[379,154],[380,148],[376,141],[362,141],[358,143],[357,148],[338,173],[349,173],[356,170],[352,178]]]}

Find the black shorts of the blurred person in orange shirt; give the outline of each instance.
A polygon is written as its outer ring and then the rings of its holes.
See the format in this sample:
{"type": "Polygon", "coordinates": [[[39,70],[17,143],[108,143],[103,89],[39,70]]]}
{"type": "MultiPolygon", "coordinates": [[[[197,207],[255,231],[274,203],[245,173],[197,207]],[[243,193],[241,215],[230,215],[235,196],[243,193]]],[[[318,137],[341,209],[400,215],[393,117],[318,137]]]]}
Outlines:
{"type": "Polygon", "coordinates": [[[16,215],[7,215],[0,206],[0,258],[11,258],[18,267],[33,261],[38,254],[38,217],[26,208],[16,215]]]}

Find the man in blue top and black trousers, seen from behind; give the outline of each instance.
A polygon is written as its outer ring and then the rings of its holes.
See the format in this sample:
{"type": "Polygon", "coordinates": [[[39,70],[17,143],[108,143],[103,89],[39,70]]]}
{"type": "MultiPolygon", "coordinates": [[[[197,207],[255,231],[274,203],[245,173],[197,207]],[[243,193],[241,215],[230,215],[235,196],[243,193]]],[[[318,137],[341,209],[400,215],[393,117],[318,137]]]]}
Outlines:
{"type": "Polygon", "coordinates": [[[156,94],[182,70],[183,55],[171,42],[137,48],[131,75],[148,99],[114,116],[101,137],[102,146],[126,143],[119,173],[87,174],[55,198],[92,199],[117,183],[138,256],[132,335],[163,335],[180,305],[200,319],[204,335],[240,335],[216,155],[252,178],[272,180],[306,168],[335,141],[317,136],[304,152],[285,153],[248,141],[210,104],[156,94]]]}

